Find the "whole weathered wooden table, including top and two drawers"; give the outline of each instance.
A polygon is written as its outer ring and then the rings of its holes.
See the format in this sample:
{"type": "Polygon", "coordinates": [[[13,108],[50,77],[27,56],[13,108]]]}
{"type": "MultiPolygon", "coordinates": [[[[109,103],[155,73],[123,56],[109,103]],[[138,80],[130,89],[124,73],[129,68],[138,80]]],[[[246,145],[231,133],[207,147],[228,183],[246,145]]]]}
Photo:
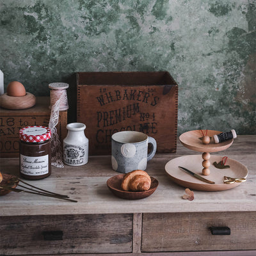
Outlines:
{"type": "MultiPolygon", "coordinates": [[[[256,255],[255,145],[256,136],[238,136],[216,153],[244,164],[246,182],[226,191],[194,191],[193,201],[182,200],[185,188],[164,170],[170,159],[200,154],[180,143],[176,154],[159,154],[148,162],[147,171],[159,186],[141,200],[109,191],[106,181],[118,174],[111,170],[110,156],[92,156],[79,167],[52,167],[50,177],[28,182],[78,202],[28,193],[1,196],[0,255],[256,255]],[[230,236],[212,235],[213,226],[229,227],[230,236]]],[[[0,163],[1,172],[19,175],[19,159],[0,163]]]]}

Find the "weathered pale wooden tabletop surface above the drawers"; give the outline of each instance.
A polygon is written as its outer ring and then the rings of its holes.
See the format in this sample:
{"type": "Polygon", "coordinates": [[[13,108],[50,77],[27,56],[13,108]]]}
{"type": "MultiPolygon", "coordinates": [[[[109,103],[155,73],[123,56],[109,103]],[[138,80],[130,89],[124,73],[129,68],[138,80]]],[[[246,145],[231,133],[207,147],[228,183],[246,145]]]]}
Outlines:
{"type": "MultiPolygon", "coordinates": [[[[106,214],[136,212],[218,212],[256,211],[256,136],[238,136],[227,150],[214,155],[236,159],[248,168],[246,182],[226,191],[194,191],[193,201],[182,200],[183,187],[175,184],[164,170],[171,159],[200,154],[177,144],[177,153],[158,154],[148,162],[147,172],[159,180],[151,196],[141,200],[125,200],[109,191],[106,182],[118,173],[111,169],[110,156],[91,156],[84,166],[56,168],[43,180],[30,184],[70,196],[77,203],[56,198],[11,192],[0,196],[0,216],[45,214],[106,214]]],[[[19,159],[0,159],[3,173],[19,175],[19,159]]]]}

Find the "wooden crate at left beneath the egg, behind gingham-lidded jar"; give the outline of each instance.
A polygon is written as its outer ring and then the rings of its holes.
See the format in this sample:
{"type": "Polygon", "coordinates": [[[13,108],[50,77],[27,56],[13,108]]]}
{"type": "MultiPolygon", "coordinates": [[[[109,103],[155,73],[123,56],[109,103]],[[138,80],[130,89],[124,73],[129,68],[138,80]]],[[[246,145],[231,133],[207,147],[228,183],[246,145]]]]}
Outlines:
{"type": "MultiPolygon", "coordinates": [[[[36,97],[33,108],[10,110],[0,108],[0,157],[19,157],[19,130],[28,125],[48,126],[51,109],[49,97],[36,97]]],[[[60,111],[57,132],[62,142],[67,135],[67,111],[60,111]]]]}

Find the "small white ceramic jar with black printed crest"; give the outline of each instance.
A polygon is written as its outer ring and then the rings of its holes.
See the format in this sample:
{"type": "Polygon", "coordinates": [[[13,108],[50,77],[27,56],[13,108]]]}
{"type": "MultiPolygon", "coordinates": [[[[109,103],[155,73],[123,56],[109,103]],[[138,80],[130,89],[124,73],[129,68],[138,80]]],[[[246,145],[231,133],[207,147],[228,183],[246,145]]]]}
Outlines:
{"type": "Polygon", "coordinates": [[[63,140],[63,161],[71,166],[88,163],[89,141],[84,135],[85,124],[70,123],[67,125],[68,134],[63,140]]]}

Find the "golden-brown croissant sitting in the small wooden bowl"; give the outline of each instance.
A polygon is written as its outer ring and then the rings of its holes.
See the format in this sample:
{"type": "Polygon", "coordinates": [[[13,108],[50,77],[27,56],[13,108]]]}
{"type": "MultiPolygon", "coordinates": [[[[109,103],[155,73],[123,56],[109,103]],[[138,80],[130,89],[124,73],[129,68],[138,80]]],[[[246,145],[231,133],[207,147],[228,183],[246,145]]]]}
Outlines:
{"type": "Polygon", "coordinates": [[[124,175],[121,188],[125,191],[147,191],[151,186],[151,178],[143,170],[134,170],[124,175]]]}

